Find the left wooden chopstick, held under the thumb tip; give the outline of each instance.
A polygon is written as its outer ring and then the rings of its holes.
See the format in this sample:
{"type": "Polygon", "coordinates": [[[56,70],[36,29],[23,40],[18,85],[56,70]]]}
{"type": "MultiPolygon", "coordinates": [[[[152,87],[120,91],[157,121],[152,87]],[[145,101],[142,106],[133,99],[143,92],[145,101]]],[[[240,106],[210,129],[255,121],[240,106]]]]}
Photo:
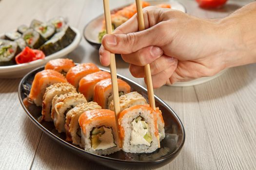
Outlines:
{"type": "MultiPolygon", "coordinates": [[[[110,9],[109,9],[109,0],[103,0],[104,5],[104,15],[106,21],[106,31],[107,34],[112,34],[112,24],[111,24],[111,16],[110,16],[110,9]]],[[[116,58],[115,54],[111,53],[110,57],[110,73],[111,73],[111,81],[112,81],[112,91],[113,91],[113,102],[115,108],[115,117],[116,117],[116,125],[117,129],[119,129],[118,123],[118,114],[120,112],[120,103],[119,103],[119,92],[118,92],[118,78],[117,78],[117,68],[116,68],[116,58]]],[[[119,138],[118,133],[118,141],[119,147],[121,147],[122,143],[119,138]]]]}

